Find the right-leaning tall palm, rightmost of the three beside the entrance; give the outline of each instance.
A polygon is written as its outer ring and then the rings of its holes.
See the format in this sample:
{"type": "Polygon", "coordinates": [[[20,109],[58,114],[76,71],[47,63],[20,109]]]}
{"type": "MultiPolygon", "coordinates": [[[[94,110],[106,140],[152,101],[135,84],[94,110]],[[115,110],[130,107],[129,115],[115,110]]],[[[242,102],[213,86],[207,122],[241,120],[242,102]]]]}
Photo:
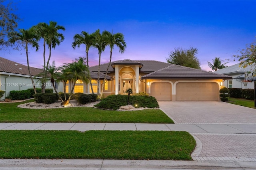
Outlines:
{"type": "MultiPolygon", "coordinates": [[[[110,64],[111,64],[112,51],[114,49],[114,46],[116,45],[119,48],[120,53],[124,53],[124,50],[126,48],[126,42],[124,42],[124,34],[122,34],[122,33],[113,34],[113,33],[110,33],[108,31],[104,31],[104,32],[102,32],[102,36],[103,36],[103,41],[106,43],[106,46],[110,47],[110,59],[109,59],[109,63],[108,63],[106,73],[105,73],[106,75],[105,75],[104,81],[103,81],[103,87],[104,87],[106,77],[107,77],[107,74],[108,74],[108,69],[109,69],[110,64]]],[[[118,78],[118,77],[116,77],[116,78],[118,78]]],[[[102,97],[103,87],[101,89],[100,99],[102,97]]]]}

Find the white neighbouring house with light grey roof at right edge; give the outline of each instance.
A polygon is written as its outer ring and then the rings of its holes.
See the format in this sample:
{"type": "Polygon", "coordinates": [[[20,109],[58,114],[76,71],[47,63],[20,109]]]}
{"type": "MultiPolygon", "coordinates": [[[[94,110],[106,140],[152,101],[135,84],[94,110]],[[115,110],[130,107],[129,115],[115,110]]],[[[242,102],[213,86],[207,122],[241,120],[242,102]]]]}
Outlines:
{"type": "Polygon", "coordinates": [[[225,67],[223,69],[214,71],[213,73],[224,74],[231,76],[231,79],[226,79],[223,85],[228,88],[240,88],[240,89],[254,89],[254,83],[247,83],[245,86],[242,81],[244,80],[244,74],[247,72],[255,71],[255,65],[249,65],[246,68],[240,67],[239,63],[225,67]]]}

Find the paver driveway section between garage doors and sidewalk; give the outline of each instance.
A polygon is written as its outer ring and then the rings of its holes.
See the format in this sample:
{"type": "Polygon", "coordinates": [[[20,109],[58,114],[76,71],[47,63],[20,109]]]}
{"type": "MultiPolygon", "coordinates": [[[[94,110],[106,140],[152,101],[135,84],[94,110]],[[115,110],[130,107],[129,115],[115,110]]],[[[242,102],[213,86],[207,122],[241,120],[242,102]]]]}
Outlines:
{"type": "Polygon", "coordinates": [[[256,109],[220,101],[158,101],[174,123],[256,123],[256,109]]]}

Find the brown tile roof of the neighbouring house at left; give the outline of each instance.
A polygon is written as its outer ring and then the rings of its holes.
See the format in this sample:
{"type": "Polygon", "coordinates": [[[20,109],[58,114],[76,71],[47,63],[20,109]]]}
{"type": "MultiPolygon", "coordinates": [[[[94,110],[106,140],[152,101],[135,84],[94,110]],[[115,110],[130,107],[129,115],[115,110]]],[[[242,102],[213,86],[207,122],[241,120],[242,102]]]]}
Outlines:
{"type": "MultiPolygon", "coordinates": [[[[42,73],[42,69],[30,67],[32,76],[42,73]]],[[[28,66],[0,57],[0,72],[29,75],[28,66]]]]}

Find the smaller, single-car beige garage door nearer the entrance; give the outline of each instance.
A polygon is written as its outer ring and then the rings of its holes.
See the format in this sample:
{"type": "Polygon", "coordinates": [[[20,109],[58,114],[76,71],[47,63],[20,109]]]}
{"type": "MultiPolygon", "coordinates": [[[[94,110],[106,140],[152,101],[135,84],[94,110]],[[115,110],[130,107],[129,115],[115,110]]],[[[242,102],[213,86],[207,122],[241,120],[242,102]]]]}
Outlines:
{"type": "Polygon", "coordinates": [[[158,101],[172,100],[170,83],[152,83],[150,86],[150,95],[154,96],[158,101]]]}

